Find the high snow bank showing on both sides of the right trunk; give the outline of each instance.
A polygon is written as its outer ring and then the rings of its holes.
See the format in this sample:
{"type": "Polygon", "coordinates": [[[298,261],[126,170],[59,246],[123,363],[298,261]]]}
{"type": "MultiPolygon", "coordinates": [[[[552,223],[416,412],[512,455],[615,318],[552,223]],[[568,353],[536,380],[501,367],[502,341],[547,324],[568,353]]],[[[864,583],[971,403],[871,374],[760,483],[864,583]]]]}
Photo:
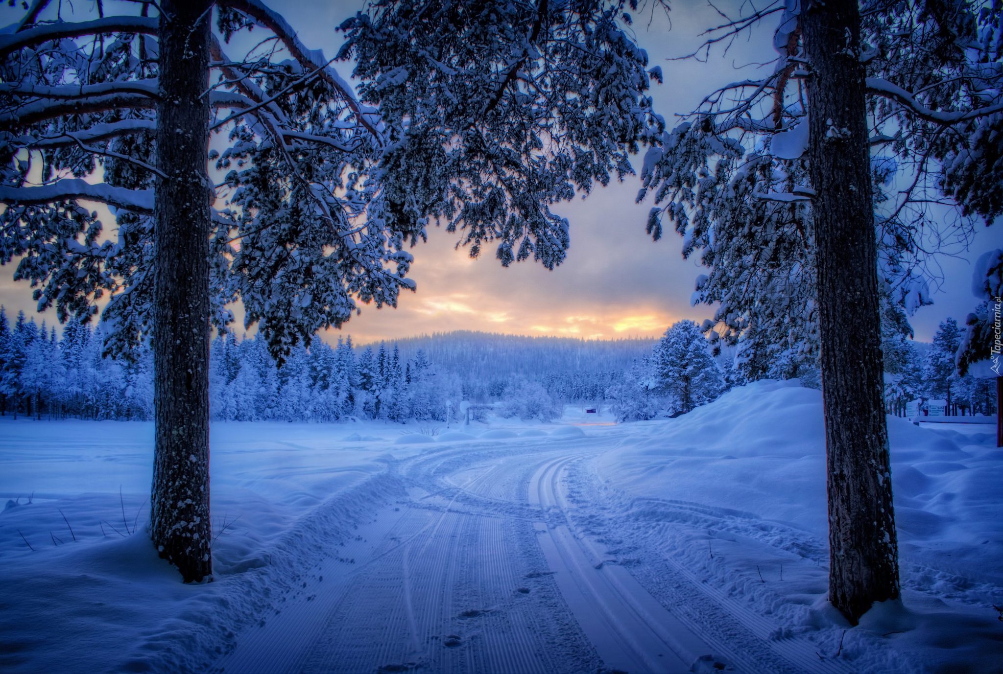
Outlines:
{"type": "MultiPolygon", "coordinates": [[[[1000,511],[1003,466],[978,460],[989,450],[894,416],[888,426],[900,542],[994,540],[997,516],[981,510],[995,497],[990,510],[1000,511]]],[[[597,467],[635,495],[750,512],[827,537],[821,393],[796,380],[736,387],[688,414],[645,422],[597,467]]]]}

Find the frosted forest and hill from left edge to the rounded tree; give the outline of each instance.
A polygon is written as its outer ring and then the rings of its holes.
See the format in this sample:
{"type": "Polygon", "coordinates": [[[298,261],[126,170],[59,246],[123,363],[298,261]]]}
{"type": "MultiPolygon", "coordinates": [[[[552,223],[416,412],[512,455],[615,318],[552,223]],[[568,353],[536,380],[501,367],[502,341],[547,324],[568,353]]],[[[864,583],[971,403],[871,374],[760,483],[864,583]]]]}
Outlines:
{"type": "MultiPolygon", "coordinates": [[[[148,419],[152,359],[102,355],[100,327],[70,322],[58,337],[0,308],[0,414],[35,418],[148,419]]],[[[560,416],[569,402],[601,404],[611,387],[657,344],[481,332],[331,346],[315,339],[280,367],[263,340],[219,336],[210,349],[210,406],[216,420],[445,420],[459,403],[483,416],[560,416]]]]}

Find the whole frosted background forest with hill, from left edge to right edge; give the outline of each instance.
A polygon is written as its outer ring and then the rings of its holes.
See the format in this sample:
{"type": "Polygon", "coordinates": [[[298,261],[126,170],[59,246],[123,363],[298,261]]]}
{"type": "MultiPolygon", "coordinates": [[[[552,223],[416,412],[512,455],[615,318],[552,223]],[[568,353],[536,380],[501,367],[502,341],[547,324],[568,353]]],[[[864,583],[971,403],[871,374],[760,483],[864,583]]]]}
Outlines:
{"type": "MultiPolygon", "coordinates": [[[[931,345],[886,344],[888,411],[941,398],[949,414],[995,412],[990,380],[958,376],[957,322],[941,324],[931,345]]],[[[149,419],[152,359],[101,355],[100,328],[70,321],[58,338],[0,307],[0,413],[86,419],[149,419]]],[[[217,337],[210,349],[210,406],[216,420],[341,421],[349,418],[444,421],[458,403],[503,416],[549,421],[566,403],[608,405],[621,420],[682,413],[743,383],[742,363],[711,349],[692,321],[659,341],[588,341],[453,332],[355,347],[314,340],[279,367],[264,340],[217,337]],[[433,365],[434,363],[434,365],[433,365]]]]}

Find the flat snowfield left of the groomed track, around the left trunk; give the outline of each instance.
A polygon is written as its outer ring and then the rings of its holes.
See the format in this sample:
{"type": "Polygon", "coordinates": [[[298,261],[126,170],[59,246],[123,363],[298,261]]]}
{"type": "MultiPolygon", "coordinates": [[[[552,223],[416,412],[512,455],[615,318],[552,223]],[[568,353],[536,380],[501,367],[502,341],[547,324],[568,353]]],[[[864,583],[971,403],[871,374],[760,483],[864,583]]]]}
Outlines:
{"type": "Polygon", "coordinates": [[[0,513],[4,671],[206,670],[328,554],[320,542],[351,538],[403,493],[386,473],[389,442],[343,434],[214,423],[216,582],[184,585],[145,532],[151,423],[0,418],[0,503],[15,503],[0,513]]]}

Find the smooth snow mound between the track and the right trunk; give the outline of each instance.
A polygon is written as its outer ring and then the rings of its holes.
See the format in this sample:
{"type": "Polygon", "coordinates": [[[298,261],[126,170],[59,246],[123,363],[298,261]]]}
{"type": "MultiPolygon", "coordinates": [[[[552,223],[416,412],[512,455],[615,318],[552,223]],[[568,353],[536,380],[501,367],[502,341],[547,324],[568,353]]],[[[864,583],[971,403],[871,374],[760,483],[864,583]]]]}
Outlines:
{"type": "Polygon", "coordinates": [[[760,381],[675,419],[637,425],[643,429],[598,462],[599,473],[621,488],[751,511],[825,536],[819,391],[760,381]]]}

